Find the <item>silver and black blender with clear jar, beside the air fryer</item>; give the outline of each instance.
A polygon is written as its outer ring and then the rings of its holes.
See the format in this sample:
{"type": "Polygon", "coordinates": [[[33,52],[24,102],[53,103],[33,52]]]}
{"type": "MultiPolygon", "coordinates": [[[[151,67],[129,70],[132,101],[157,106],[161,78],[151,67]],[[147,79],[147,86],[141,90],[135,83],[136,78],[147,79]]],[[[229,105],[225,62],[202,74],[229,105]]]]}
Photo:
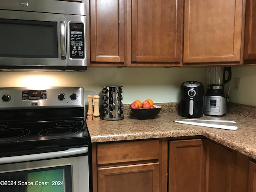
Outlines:
{"type": "Polygon", "coordinates": [[[204,114],[223,116],[227,113],[224,84],[231,79],[231,67],[209,67],[207,72],[208,89],[204,97],[204,114]]]}

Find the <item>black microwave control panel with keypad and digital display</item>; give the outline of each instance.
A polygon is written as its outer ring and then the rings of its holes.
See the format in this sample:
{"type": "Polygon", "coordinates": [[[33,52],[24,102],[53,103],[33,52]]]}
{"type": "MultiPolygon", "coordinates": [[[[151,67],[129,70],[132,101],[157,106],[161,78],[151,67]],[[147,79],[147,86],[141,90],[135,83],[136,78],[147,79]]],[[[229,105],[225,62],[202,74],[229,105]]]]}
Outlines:
{"type": "Polygon", "coordinates": [[[70,58],[83,59],[84,52],[84,24],[70,23],[70,58]]]}

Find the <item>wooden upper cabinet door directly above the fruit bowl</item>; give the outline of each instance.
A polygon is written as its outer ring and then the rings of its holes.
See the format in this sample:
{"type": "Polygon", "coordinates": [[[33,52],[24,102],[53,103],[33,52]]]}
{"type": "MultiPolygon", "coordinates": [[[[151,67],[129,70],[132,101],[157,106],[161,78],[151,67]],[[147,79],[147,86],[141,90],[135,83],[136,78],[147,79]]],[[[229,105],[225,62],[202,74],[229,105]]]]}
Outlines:
{"type": "Polygon", "coordinates": [[[180,62],[181,0],[132,0],[131,62],[180,62]]]}

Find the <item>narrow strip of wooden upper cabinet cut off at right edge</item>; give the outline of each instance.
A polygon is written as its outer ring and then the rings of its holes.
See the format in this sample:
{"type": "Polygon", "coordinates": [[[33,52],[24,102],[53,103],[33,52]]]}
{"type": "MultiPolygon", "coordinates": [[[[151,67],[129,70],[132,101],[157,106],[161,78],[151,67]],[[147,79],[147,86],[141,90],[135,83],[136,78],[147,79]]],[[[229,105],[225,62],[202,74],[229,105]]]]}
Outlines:
{"type": "Polygon", "coordinates": [[[256,2],[246,0],[244,59],[256,60],[256,2]]]}

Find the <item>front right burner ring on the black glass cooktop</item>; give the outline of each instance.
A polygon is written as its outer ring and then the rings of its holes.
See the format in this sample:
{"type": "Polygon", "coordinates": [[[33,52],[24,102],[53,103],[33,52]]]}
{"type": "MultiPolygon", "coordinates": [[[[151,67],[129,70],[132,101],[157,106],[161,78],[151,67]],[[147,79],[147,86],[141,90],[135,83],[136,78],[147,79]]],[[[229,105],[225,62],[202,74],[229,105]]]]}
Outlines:
{"type": "Polygon", "coordinates": [[[38,134],[43,137],[62,137],[69,136],[78,132],[74,127],[54,127],[40,131],[38,134]]]}

